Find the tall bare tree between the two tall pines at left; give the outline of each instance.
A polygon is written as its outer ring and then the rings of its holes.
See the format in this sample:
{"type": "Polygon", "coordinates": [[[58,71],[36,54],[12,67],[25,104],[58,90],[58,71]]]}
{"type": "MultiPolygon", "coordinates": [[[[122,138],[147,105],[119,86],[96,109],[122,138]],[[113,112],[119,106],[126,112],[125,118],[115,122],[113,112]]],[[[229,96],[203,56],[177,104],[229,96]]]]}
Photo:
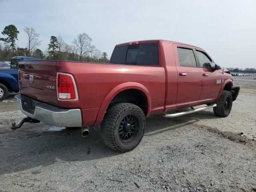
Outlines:
{"type": "Polygon", "coordinates": [[[39,46],[42,41],[38,39],[39,34],[34,30],[34,28],[25,27],[23,31],[27,35],[28,39],[28,56],[30,56],[31,50],[34,50],[36,46],[39,46]]]}

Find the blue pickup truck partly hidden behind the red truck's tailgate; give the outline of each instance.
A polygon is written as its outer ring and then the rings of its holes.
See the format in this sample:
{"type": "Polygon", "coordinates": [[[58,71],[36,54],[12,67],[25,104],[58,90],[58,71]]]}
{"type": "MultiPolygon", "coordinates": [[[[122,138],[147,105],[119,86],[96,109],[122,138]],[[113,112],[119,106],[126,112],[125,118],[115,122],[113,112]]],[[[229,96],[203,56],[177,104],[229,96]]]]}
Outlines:
{"type": "Polygon", "coordinates": [[[40,60],[32,57],[13,57],[10,68],[0,68],[0,101],[8,96],[8,92],[19,92],[18,65],[20,61],[40,60]]]}

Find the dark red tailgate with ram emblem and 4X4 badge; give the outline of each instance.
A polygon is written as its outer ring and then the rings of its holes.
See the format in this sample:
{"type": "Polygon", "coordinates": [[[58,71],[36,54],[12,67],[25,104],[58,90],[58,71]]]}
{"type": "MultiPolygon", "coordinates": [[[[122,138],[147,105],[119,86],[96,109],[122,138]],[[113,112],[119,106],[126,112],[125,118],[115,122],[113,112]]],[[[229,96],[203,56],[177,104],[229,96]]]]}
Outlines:
{"type": "Polygon", "coordinates": [[[20,62],[19,82],[21,94],[54,106],[58,105],[55,61],[20,62]]]}

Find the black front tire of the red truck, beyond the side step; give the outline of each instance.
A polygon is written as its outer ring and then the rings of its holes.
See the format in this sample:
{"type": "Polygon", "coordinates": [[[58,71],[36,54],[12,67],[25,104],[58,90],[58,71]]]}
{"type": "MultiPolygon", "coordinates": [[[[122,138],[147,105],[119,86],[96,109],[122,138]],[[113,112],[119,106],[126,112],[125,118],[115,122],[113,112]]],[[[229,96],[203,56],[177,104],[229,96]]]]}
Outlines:
{"type": "Polygon", "coordinates": [[[226,117],[232,109],[232,94],[230,91],[222,91],[217,106],[213,108],[214,114],[219,117],[226,117]],[[225,102],[228,100],[228,108],[225,107],[225,102]]]}

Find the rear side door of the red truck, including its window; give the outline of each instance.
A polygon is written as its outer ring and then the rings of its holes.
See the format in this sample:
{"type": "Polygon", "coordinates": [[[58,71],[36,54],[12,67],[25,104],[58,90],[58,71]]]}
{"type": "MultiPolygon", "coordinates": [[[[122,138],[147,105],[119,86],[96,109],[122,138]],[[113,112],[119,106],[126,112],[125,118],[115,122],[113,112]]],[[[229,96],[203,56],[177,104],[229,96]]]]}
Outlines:
{"type": "Polygon", "coordinates": [[[178,72],[177,106],[197,103],[202,90],[202,72],[197,67],[195,50],[191,46],[174,44],[178,72]]]}

